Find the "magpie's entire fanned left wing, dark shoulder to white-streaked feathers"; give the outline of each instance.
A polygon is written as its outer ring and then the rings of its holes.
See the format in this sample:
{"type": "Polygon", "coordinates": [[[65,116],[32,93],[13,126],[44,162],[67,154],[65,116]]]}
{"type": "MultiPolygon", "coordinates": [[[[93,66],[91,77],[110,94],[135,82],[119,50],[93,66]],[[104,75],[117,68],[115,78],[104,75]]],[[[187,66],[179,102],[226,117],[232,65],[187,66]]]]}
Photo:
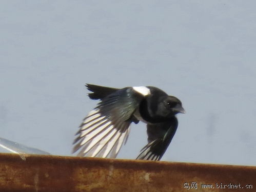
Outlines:
{"type": "Polygon", "coordinates": [[[102,98],[84,119],[74,140],[73,153],[78,156],[115,158],[135,121],[133,113],[143,96],[131,87],[116,90],[102,98]]]}

